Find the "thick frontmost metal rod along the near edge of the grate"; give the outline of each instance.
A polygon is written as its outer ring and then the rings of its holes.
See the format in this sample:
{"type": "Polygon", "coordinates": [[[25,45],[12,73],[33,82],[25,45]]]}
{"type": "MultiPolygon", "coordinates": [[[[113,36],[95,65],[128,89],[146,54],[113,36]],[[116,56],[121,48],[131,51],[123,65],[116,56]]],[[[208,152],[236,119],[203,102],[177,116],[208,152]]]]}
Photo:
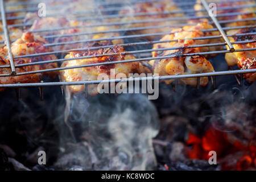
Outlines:
{"type": "Polygon", "coordinates": [[[28,83],[28,84],[0,84],[0,88],[27,88],[35,86],[68,86],[68,85],[93,85],[100,83],[110,82],[121,82],[121,81],[142,81],[142,80],[175,80],[183,78],[194,78],[194,77],[213,77],[220,75],[236,75],[241,73],[253,73],[256,69],[245,69],[245,70],[234,70],[234,71],[220,71],[220,72],[209,72],[209,73],[196,73],[189,75],[169,75],[169,76],[153,76],[153,77],[136,77],[136,78],[123,78],[123,79],[112,79],[112,80],[87,80],[87,81],[72,81],[72,82],[40,82],[40,83],[28,83]]]}

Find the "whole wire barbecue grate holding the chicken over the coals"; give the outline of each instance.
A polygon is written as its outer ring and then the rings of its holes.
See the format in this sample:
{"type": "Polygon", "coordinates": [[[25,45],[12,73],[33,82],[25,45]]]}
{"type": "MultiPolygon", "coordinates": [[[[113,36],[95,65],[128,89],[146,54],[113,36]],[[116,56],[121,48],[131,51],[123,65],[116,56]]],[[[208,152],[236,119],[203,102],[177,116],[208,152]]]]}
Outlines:
{"type": "MultiPolygon", "coordinates": [[[[129,1],[131,4],[133,2],[155,2],[155,1],[161,1],[161,0],[140,0],[140,1],[129,1]]],[[[244,0],[230,0],[228,2],[242,2],[244,0]]],[[[42,2],[42,1],[40,1],[42,2]]],[[[175,1],[174,1],[175,2],[175,1]]],[[[61,50],[61,51],[52,51],[52,52],[43,52],[43,53],[36,53],[33,55],[23,55],[23,56],[13,56],[10,49],[10,39],[9,39],[9,27],[26,27],[31,26],[31,23],[19,23],[19,24],[10,24],[7,25],[7,20],[16,20],[16,19],[24,19],[24,16],[8,16],[8,13],[15,13],[15,12],[36,12],[38,11],[38,8],[36,7],[39,2],[32,1],[32,2],[18,2],[18,3],[5,3],[3,0],[0,1],[1,3],[1,19],[3,24],[3,34],[5,35],[6,40],[6,46],[8,48],[8,54],[9,54],[9,60],[10,65],[1,65],[1,68],[10,68],[11,73],[10,74],[2,74],[0,77],[14,77],[14,76],[20,76],[20,75],[30,75],[34,73],[43,73],[43,72],[54,72],[54,71],[61,71],[64,69],[74,69],[74,68],[82,68],[82,67],[94,67],[98,65],[108,65],[108,64],[117,64],[117,63],[128,63],[128,62],[135,62],[135,61],[150,61],[153,59],[165,59],[165,58],[171,58],[171,57],[178,57],[178,56],[194,56],[194,55],[215,55],[215,54],[223,54],[223,53],[229,53],[229,52],[240,52],[240,51],[254,51],[256,48],[248,48],[248,49],[234,49],[232,44],[237,43],[250,43],[255,42],[256,40],[245,40],[240,42],[233,42],[230,43],[228,37],[229,36],[247,36],[247,35],[255,35],[256,32],[250,32],[246,34],[237,34],[237,35],[226,35],[225,31],[227,30],[234,30],[239,28],[249,28],[249,27],[255,27],[255,24],[251,24],[249,26],[239,26],[239,27],[222,27],[221,24],[224,23],[230,23],[230,22],[243,22],[243,21],[254,21],[256,18],[250,18],[250,19],[237,19],[237,20],[218,20],[219,17],[226,17],[226,16],[234,16],[234,15],[240,15],[240,14],[248,14],[248,13],[225,13],[225,14],[217,14],[216,17],[210,16],[209,14],[198,16],[196,15],[197,12],[209,12],[208,4],[210,2],[206,2],[205,0],[201,0],[201,4],[204,6],[204,10],[196,11],[193,9],[193,5],[195,5],[195,2],[175,2],[175,5],[179,6],[181,10],[177,11],[171,11],[171,12],[162,12],[161,14],[177,14],[177,13],[184,13],[185,15],[183,17],[177,17],[177,18],[161,18],[161,19],[152,19],[152,20],[137,20],[137,21],[131,21],[131,22],[110,22],[110,23],[96,23],[96,24],[88,24],[86,26],[77,26],[77,27],[58,27],[58,28],[49,28],[44,30],[33,30],[30,32],[51,32],[51,31],[58,31],[58,30],[65,30],[69,28],[85,28],[85,27],[99,27],[99,26],[116,26],[116,25],[123,25],[123,24],[136,24],[136,23],[150,23],[150,22],[160,22],[160,21],[172,21],[172,20],[188,20],[188,19],[201,19],[201,18],[208,18],[211,21],[209,24],[212,24],[215,26],[215,28],[210,30],[203,30],[203,31],[218,31],[220,32],[220,35],[218,36],[204,36],[199,38],[193,38],[195,40],[200,39],[216,39],[216,38],[222,38],[222,43],[210,43],[210,44],[203,44],[203,45],[196,45],[196,46],[188,46],[187,48],[196,48],[196,47],[213,47],[213,46],[228,46],[229,49],[224,49],[221,51],[211,51],[211,52],[200,52],[200,53],[188,53],[183,55],[170,55],[170,56],[159,56],[159,57],[151,57],[152,51],[164,51],[164,50],[170,50],[170,49],[179,49],[181,47],[174,47],[174,48],[159,48],[159,49],[148,49],[144,48],[147,45],[152,45],[155,43],[165,43],[165,42],[171,42],[171,41],[177,41],[177,40],[168,40],[168,41],[160,41],[160,40],[154,40],[154,41],[134,41],[137,38],[144,38],[146,36],[159,36],[159,35],[166,35],[170,34],[170,32],[161,32],[161,33],[155,33],[155,34],[135,34],[135,35],[122,35],[122,36],[115,36],[113,38],[102,38],[102,39],[86,39],[86,40],[77,40],[72,42],[61,42],[61,43],[47,43],[43,46],[46,47],[53,47],[53,46],[62,46],[62,45],[69,45],[69,44],[75,44],[75,43],[88,43],[88,42],[94,42],[94,41],[100,41],[100,40],[116,40],[116,39],[126,39],[129,40],[128,43],[118,44],[119,46],[124,47],[131,47],[131,46],[137,46],[140,49],[135,51],[127,51],[125,54],[136,54],[140,55],[138,59],[132,59],[132,60],[124,60],[124,61],[111,61],[111,62],[105,62],[105,63],[95,63],[95,64],[86,64],[86,65],[79,65],[75,67],[64,67],[64,68],[52,68],[52,69],[42,69],[39,71],[30,71],[30,72],[20,72],[17,73],[15,71],[15,68],[18,67],[27,67],[30,65],[37,65],[37,64],[46,64],[46,63],[63,63],[63,61],[68,60],[75,60],[75,59],[86,59],[86,58],[92,58],[92,57],[102,57],[102,56],[113,56],[117,55],[117,53],[114,54],[106,54],[106,55],[96,55],[96,56],[83,56],[83,57],[75,57],[71,59],[56,59],[56,60],[49,60],[49,61],[39,61],[35,63],[27,63],[27,64],[14,64],[14,59],[21,59],[24,57],[35,57],[35,56],[42,56],[42,55],[52,55],[52,54],[58,54],[58,53],[67,53],[70,51],[85,51],[88,49],[99,49],[99,48],[108,48],[113,46],[103,46],[103,47],[91,47],[91,48],[77,48],[77,49],[69,49],[69,50],[61,50]],[[6,10],[7,6],[18,6],[18,5],[26,5],[27,7],[24,9],[17,9],[17,10],[6,10]],[[189,6],[189,8],[187,8],[189,6]],[[185,8],[184,8],[185,7],[185,8]],[[191,16],[192,15],[192,16],[191,16]]],[[[222,3],[222,2],[218,2],[222,3]]],[[[121,6],[124,5],[125,2],[102,2],[98,5],[100,6],[106,6],[104,9],[100,9],[101,12],[104,12],[103,15],[98,17],[90,16],[90,14],[96,13],[96,10],[92,11],[73,11],[71,14],[75,16],[75,19],[77,20],[96,20],[96,19],[112,19],[112,18],[118,18],[118,17],[126,17],[126,16],[147,16],[147,15],[157,15],[159,13],[138,13],[138,14],[126,14],[126,15],[119,15],[115,11],[121,9],[121,6]],[[114,7],[110,7],[110,5],[114,7]]],[[[220,7],[218,10],[231,10],[231,9],[241,9],[245,7],[255,7],[255,5],[250,6],[236,6],[236,7],[220,7]]],[[[54,7],[47,7],[49,9],[51,8],[61,8],[61,6],[54,6],[54,7]]],[[[254,12],[255,13],[255,12],[254,12]]],[[[64,14],[51,14],[47,16],[61,16],[64,14]]],[[[127,32],[127,31],[137,31],[137,30],[151,30],[156,28],[163,28],[163,27],[183,27],[187,25],[195,25],[196,23],[181,23],[181,24],[171,24],[170,26],[150,26],[150,27],[136,27],[136,28],[115,28],[113,30],[108,31],[93,31],[93,32],[82,32],[82,33],[75,33],[75,34],[65,34],[65,35],[47,35],[44,36],[44,38],[61,38],[61,37],[69,37],[69,36],[80,36],[80,35],[92,35],[92,34],[108,34],[110,32],[127,32]]],[[[3,43],[3,42],[2,42],[3,43]]],[[[220,60],[220,61],[225,61],[220,60]]],[[[209,72],[209,73],[197,73],[197,74],[189,74],[189,75],[172,75],[172,76],[152,76],[152,77],[139,77],[139,78],[126,78],[126,79],[112,79],[112,80],[87,80],[87,81],[73,81],[73,82],[36,82],[36,83],[26,83],[26,84],[2,84],[0,85],[0,88],[26,88],[26,87],[39,87],[42,88],[42,86],[67,86],[67,85],[85,85],[85,93],[87,92],[87,85],[90,84],[99,84],[100,82],[119,82],[119,81],[136,81],[136,80],[147,80],[147,79],[159,79],[159,80],[175,80],[174,88],[177,88],[177,80],[181,78],[197,78],[197,88],[200,86],[200,77],[210,77],[210,80],[212,81],[212,85],[214,88],[216,88],[216,76],[225,76],[225,75],[234,75],[237,78],[238,84],[241,84],[241,80],[243,78],[243,74],[245,73],[254,73],[256,72],[256,69],[246,69],[246,70],[226,70],[226,71],[215,71],[215,72],[209,72]]],[[[87,94],[87,93],[86,93],[87,94]]]]}

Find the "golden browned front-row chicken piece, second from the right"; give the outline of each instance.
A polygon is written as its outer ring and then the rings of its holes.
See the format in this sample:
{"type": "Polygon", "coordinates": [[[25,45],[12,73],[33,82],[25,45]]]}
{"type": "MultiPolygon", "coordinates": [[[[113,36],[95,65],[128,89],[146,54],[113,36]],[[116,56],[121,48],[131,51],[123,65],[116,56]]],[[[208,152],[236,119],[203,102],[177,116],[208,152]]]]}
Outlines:
{"type": "MultiPolygon", "coordinates": [[[[204,37],[204,36],[212,36],[216,35],[217,32],[203,32],[202,29],[211,29],[213,28],[208,23],[199,23],[196,26],[185,26],[183,28],[178,28],[173,30],[170,35],[164,36],[163,40],[179,40],[177,42],[167,42],[167,43],[158,43],[154,44],[153,49],[159,48],[172,48],[172,47],[182,47],[180,49],[175,50],[167,50],[167,51],[155,51],[152,52],[153,57],[157,56],[167,56],[167,55],[180,55],[185,53],[199,53],[199,52],[207,52],[213,51],[214,47],[197,47],[197,48],[186,48],[187,46],[195,46],[199,44],[208,44],[212,43],[213,40],[210,39],[202,39],[202,40],[192,40],[191,38],[204,37]],[[186,39],[186,40],[182,40],[186,39]]],[[[205,72],[213,72],[212,64],[205,59],[204,56],[189,56],[189,57],[181,57],[177,56],[174,58],[168,59],[160,59],[160,60],[152,60],[150,61],[152,67],[154,67],[154,73],[158,73],[159,76],[166,75],[184,75],[191,73],[205,73],[205,72]]],[[[196,86],[196,78],[185,78],[181,80],[187,85],[196,86]]],[[[172,80],[165,81],[166,84],[170,84],[172,80]]],[[[207,77],[200,78],[200,85],[206,86],[208,84],[207,77]]]]}

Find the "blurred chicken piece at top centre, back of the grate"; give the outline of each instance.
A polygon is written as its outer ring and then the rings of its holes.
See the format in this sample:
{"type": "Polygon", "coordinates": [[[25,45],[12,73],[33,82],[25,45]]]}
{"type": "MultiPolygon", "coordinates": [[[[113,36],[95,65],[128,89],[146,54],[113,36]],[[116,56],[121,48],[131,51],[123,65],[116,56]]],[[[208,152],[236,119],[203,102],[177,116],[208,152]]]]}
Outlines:
{"type": "MultiPolygon", "coordinates": [[[[152,22],[147,23],[130,23],[125,24],[124,28],[135,28],[135,27],[152,27],[152,26],[171,26],[172,24],[183,23],[181,20],[164,20],[164,21],[154,21],[156,19],[163,18],[177,18],[184,16],[183,13],[166,13],[171,11],[179,11],[180,9],[172,1],[160,1],[160,2],[139,2],[135,5],[126,6],[124,9],[119,11],[120,15],[127,15],[121,19],[121,22],[134,22],[141,20],[152,20],[152,22]],[[133,14],[154,14],[155,15],[139,15],[139,16],[129,16],[133,14]],[[165,13],[165,14],[163,14],[165,13]]],[[[119,20],[119,19],[117,19],[119,20]]],[[[161,32],[170,32],[171,27],[162,27],[162,28],[150,28],[144,30],[135,31],[136,34],[155,34],[161,32]]],[[[129,32],[132,33],[132,32],[129,32]]],[[[162,36],[160,36],[162,37],[162,36]]],[[[142,37],[150,40],[159,39],[159,36],[146,36],[142,37]]]]}

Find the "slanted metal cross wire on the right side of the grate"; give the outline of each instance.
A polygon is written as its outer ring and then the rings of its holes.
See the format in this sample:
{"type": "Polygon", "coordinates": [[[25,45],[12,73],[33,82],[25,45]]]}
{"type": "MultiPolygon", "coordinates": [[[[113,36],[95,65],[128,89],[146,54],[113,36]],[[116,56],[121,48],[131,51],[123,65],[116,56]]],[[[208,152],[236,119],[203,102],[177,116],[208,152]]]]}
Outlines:
{"type": "Polygon", "coordinates": [[[228,37],[226,36],[226,33],[224,32],[224,30],[222,29],[220,23],[218,22],[217,18],[210,14],[210,9],[209,9],[209,5],[207,2],[205,2],[205,0],[201,0],[201,2],[203,3],[205,9],[208,11],[210,18],[213,20],[215,26],[218,28],[218,31],[220,31],[222,38],[225,40],[226,44],[228,44],[228,47],[230,49],[230,51],[234,52],[234,47],[232,46],[232,44],[230,43],[228,37]]]}

